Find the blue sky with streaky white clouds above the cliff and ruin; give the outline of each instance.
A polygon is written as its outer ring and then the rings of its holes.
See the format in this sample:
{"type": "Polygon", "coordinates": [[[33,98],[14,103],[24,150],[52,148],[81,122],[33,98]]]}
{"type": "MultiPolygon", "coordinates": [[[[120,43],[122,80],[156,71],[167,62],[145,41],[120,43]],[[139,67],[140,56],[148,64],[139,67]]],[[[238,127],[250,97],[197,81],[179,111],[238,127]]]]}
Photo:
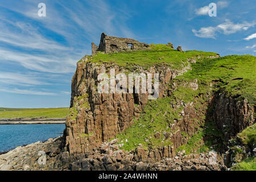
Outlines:
{"type": "Polygon", "coordinates": [[[184,50],[256,55],[256,3],[0,1],[0,107],[68,107],[76,63],[101,32],[184,50]],[[208,15],[216,3],[217,16],[208,15]],[[46,4],[46,17],[38,4],[46,4]]]}

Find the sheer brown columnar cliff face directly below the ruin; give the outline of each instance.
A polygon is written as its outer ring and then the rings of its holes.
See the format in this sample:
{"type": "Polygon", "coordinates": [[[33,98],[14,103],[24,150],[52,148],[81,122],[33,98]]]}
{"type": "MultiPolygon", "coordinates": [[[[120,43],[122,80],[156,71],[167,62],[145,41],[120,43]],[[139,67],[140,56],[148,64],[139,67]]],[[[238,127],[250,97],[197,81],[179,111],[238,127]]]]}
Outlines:
{"type": "MultiPolygon", "coordinates": [[[[77,64],[72,79],[71,113],[65,129],[65,148],[71,154],[80,154],[92,150],[98,143],[107,142],[118,133],[127,129],[138,119],[148,101],[148,93],[98,93],[98,75],[109,74],[111,68],[115,74],[128,70],[118,65],[96,64],[85,60],[77,64]]],[[[159,73],[159,98],[163,97],[166,84],[189,67],[175,70],[169,67],[151,67],[151,73],[159,73]]],[[[140,73],[146,73],[139,68],[140,73]]]]}

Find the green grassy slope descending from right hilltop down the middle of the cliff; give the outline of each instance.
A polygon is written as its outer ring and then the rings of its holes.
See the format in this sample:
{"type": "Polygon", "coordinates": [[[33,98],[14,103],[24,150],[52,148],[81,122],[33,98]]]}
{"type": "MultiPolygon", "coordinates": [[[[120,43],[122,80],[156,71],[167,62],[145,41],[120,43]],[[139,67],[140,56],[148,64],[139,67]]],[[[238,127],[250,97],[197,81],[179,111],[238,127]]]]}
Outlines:
{"type": "MultiPolygon", "coordinates": [[[[168,123],[172,123],[174,118],[179,118],[179,111],[183,108],[180,107],[178,110],[174,110],[171,107],[171,101],[183,100],[185,103],[191,102],[198,96],[199,93],[214,92],[214,90],[221,89],[222,92],[226,92],[229,96],[236,96],[238,100],[247,98],[247,100],[255,105],[255,92],[256,89],[256,58],[254,56],[225,56],[217,59],[205,59],[198,60],[196,64],[192,65],[192,71],[184,73],[183,76],[175,78],[175,82],[191,82],[198,80],[199,89],[192,90],[187,86],[179,86],[177,90],[172,94],[170,98],[163,98],[161,100],[148,102],[146,108],[141,114],[138,121],[135,121],[134,125],[125,131],[117,135],[117,138],[129,142],[124,143],[123,148],[126,150],[134,149],[139,143],[147,146],[148,143],[151,145],[164,145],[162,139],[155,140],[155,131],[168,131],[168,123]],[[243,78],[242,80],[236,80],[236,78],[243,78]],[[210,83],[213,80],[220,80],[211,89],[210,83]],[[235,80],[234,80],[235,79],[235,80]],[[168,117],[163,117],[166,114],[168,117]],[[151,138],[150,138],[151,136],[151,138]],[[145,142],[145,138],[149,138],[148,142],[145,142]]],[[[200,98],[199,98],[200,99],[200,98]]],[[[201,103],[205,102],[207,98],[202,98],[201,103]]],[[[200,106],[198,107],[200,110],[200,106]]],[[[212,141],[201,146],[203,143],[203,137],[205,135],[222,137],[221,133],[214,127],[213,121],[205,124],[199,130],[200,132],[195,134],[187,145],[181,146],[180,150],[186,150],[187,153],[195,152],[196,148],[199,147],[200,151],[209,150],[212,141]]],[[[184,134],[185,135],[185,134],[184,134]]],[[[161,137],[163,138],[163,137],[161,137]]],[[[152,147],[152,146],[151,146],[152,147]]]]}

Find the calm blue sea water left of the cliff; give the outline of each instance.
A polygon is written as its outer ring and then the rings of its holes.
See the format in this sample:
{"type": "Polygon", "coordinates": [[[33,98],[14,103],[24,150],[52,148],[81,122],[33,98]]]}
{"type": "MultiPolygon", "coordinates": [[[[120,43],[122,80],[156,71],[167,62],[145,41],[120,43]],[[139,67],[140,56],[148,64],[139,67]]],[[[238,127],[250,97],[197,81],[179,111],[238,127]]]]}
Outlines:
{"type": "Polygon", "coordinates": [[[63,135],[65,124],[0,125],[0,152],[63,135]]]}

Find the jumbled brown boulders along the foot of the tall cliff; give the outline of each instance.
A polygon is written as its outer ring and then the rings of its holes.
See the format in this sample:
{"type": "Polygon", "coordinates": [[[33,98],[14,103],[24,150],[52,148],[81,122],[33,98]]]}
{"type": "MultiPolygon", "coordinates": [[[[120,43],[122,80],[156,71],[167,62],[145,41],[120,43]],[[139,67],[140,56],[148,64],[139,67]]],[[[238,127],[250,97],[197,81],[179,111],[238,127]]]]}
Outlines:
{"type": "MultiPolygon", "coordinates": [[[[167,147],[168,148],[168,147],[167,147]]],[[[155,160],[146,155],[143,148],[127,152],[118,150],[117,144],[102,143],[90,154],[80,156],[72,162],[69,169],[74,171],[225,171],[222,156],[216,152],[184,155],[179,152],[175,158],[164,158],[159,155],[155,160]]]]}

